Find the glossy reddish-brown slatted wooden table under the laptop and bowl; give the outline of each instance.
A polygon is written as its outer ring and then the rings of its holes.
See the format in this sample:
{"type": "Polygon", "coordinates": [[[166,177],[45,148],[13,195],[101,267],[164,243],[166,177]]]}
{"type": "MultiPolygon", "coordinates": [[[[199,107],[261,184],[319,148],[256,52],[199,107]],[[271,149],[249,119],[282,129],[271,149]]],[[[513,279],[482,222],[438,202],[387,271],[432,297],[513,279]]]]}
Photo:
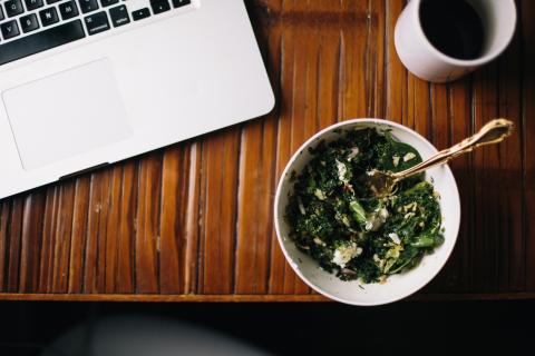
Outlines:
{"type": "MultiPolygon", "coordinates": [[[[246,1],[278,98],[268,116],[0,201],[0,298],[323,300],[273,231],[289,157],[338,120],[401,122],[445,148],[505,116],[516,134],[451,165],[455,251],[412,298],[535,297],[535,2],[507,52],[430,85],[392,41],[401,0],[246,1]]],[[[181,118],[184,119],[184,118],[181,118]]]]}

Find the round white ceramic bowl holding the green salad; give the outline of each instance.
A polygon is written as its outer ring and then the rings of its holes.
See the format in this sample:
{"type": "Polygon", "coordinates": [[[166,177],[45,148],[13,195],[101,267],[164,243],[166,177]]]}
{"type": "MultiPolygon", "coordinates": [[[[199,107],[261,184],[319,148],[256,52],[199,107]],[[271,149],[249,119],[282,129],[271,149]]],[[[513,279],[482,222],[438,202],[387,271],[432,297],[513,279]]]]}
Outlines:
{"type": "Polygon", "coordinates": [[[290,176],[293,170],[298,174],[310,161],[309,147],[314,147],[322,139],[332,141],[339,137],[337,129],[352,129],[357,127],[379,127],[391,129],[392,136],[402,142],[415,147],[422,159],[437,152],[437,149],[422,136],[414,130],[390,121],[380,119],[354,119],[332,125],[312,136],[304,142],[288,162],[279,181],[275,194],[274,217],[275,230],[286,260],[293,270],[310,287],[322,295],[346,304],[371,306],[392,303],[402,299],[428,284],[442,268],[454,249],[460,222],[459,192],[454,175],[448,166],[440,166],[427,171],[426,179],[432,178],[435,189],[440,194],[440,209],[445,241],[434,254],[424,257],[416,268],[399,275],[390,276],[385,284],[361,285],[359,281],[342,281],[321,269],[315,260],[301,253],[289,237],[290,226],[284,218],[288,197],[292,192],[293,184],[290,176]],[[359,287],[361,285],[361,287],[359,287]]]}

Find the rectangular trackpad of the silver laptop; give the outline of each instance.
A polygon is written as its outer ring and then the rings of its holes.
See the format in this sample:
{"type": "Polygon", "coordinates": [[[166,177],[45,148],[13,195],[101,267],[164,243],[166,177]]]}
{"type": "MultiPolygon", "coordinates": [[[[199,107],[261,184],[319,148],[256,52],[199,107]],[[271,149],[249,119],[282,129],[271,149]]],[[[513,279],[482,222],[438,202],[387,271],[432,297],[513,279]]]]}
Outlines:
{"type": "Polygon", "coordinates": [[[108,59],[8,89],[2,98],[27,170],[132,135],[108,59]]]}

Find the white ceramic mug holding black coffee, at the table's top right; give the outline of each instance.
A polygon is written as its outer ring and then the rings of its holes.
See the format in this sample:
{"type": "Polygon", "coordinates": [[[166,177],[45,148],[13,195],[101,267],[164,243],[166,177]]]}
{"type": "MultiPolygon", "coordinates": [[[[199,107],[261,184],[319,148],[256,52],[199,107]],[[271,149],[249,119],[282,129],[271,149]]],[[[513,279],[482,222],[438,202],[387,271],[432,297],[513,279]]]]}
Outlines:
{"type": "Polygon", "coordinates": [[[515,32],[514,0],[466,0],[481,20],[485,33],[481,53],[469,60],[449,57],[436,49],[424,32],[420,21],[422,1],[426,0],[410,0],[395,29],[395,46],[401,62],[421,79],[432,82],[458,79],[498,57],[515,32]]]}

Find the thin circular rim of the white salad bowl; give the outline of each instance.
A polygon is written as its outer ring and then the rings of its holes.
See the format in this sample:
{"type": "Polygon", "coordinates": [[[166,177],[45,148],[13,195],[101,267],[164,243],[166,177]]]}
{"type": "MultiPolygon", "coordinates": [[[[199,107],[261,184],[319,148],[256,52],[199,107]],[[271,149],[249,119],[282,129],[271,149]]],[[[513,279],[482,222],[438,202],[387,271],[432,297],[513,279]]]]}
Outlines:
{"type": "Polygon", "coordinates": [[[344,121],[340,121],[340,122],[330,125],[330,126],[323,128],[322,130],[315,132],[314,135],[312,135],[307,141],[304,141],[295,150],[295,152],[289,159],[286,166],[284,167],[284,170],[282,171],[282,174],[279,178],[279,182],[276,185],[275,199],[273,201],[273,224],[275,225],[275,234],[276,234],[276,239],[279,240],[279,246],[282,249],[282,253],[284,254],[284,258],[286,259],[286,263],[292,267],[293,271],[301,278],[301,280],[303,280],[313,290],[318,291],[319,294],[321,294],[321,295],[323,295],[323,296],[325,296],[325,297],[328,297],[332,300],[340,301],[340,303],[348,304],[348,305],[354,305],[354,306],[385,305],[385,304],[390,304],[390,303],[393,303],[393,301],[397,301],[397,300],[405,299],[405,298],[411,296],[412,294],[417,293],[421,288],[424,288],[426,285],[428,285],[440,273],[440,270],[442,270],[444,266],[449,260],[449,257],[451,256],[451,253],[454,251],[455,246],[457,244],[459,227],[460,227],[460,215],[461,215],[460,209],[461,209],[461,207],[460,207],[459,190],[458,190],[458,187],[457,187],[457,181],[455,179],[455,176],[454,176],[451,169],[449,168],[449,165],[447,165],[447,164],[444,165],[442,167],[446,169],[446,175],[451,178],[453,188],[455,189],[455,206],[457,207],[457,210],[459,211],[459,219],[458,219],[458,221],[455,226],[455,231],[453,234],[454,243],[451,244],[451,247],[449,248],[449,250],[446,251],[446,258],[444,258],[442,261],[439,261],[439,268],[434,274],[429,274],[426,278],[424,278],[424,283],[421,284],[420,287],[418,287],[415,290],[411,290],[409,293],[405,293],[405,294],[401,294],[399,296],[395,296],[395,297],[391,297],[391,298],[386,298],[386,299],[377,301],[377,303],[376,301],[362,301],[362,303],[360,303],[360,301],[348,300],[348,299],[334,296],[334,295],[323,290],[319,286],[314,285],[312,281],[310,281],[301,273],[301,270],[298,268],[296,263],[293,261],[293,259],[289,256],[288,250],[284,248],[284,241],[282,240],[282,236],[281,236],[281,231],[280,231],[280,222],[281,221],[279,219],[279,211],[278,211],[278,207],[279,207],[280,198],[281,198],[281,190],[282,190],[282,186],[283,186],[283,182],[284,182],[284,178],[286,177],[289,170],[292,168],[293,162],[295,161],[295,159],[301,155],[301,152],[308,146],[310,146],[313,141],[315,141],[318,138],[322,137],[323,135],[325,135],[328,132],[331,132],[331,131],[333,131],[333,130],[335,130],[340,127],[343,127],[343,126],[351,126],[353,123],[373,123],[373,125],[383,125],[383,126],[395,127],[395,128],[400,129],[402,131],[406,131],[409,135],[419,139],[421,141],[421,144],[424,144],[425,146],[427,146],[431,150],[431,152],[434,152],[434,154],[438,152],[438,149],[431,142],[429,142],[429,140],[427,140],[424,136],[421,136],[417,131],[412,130],[411,128],[409,128],[407,126],[403,126],[401,123],[398,123],[398,122],[393,122],[393,121],[389,121],[389,120],[385,120],[385,119],[378,119],[378,118],[353,118],[353,119],[348,119],[348,120],[344,120],[344,121]]]}

